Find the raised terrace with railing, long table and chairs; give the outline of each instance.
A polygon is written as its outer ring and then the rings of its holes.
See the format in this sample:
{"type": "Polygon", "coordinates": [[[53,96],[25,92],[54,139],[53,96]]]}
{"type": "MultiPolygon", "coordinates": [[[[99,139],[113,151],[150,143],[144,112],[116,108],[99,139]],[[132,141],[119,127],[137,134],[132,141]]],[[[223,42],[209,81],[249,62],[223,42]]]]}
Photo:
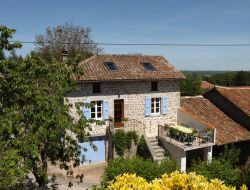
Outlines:
{"type": "Polygon", "coordinates": [[[216,130],[192,128],[182,125],[158,125],[160,141],[175,145],[184,151],[204,148],[215,144],[216,130]]]}

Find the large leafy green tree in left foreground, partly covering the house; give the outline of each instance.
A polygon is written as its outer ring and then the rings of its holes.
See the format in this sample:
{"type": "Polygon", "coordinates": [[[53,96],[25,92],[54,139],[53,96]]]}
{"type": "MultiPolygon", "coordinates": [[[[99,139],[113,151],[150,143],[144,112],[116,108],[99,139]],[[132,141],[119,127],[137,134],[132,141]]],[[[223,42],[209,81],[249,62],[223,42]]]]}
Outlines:
{"type": "Polygon", "coordinates": [[[77,70],[79,60],[52,59],[48,63],[32,53],[18,63],[0,63],[1,72],[8,76],[0,80],[0,184],[9,188],[32,172],[39,186],[45,188],[49,161],[60,161],[64,169],[69,169],[70,161],[74,166],[81,161],[78,140],[86,137],[87,123],[80,111],[80,119],[73,121],[68,114],[71,105],[64,104],[64,95],[77,90],[72,76],[81,74],[77,70]],[[3,175],[9,174],[13,178],[6,181],[3,175]]]}

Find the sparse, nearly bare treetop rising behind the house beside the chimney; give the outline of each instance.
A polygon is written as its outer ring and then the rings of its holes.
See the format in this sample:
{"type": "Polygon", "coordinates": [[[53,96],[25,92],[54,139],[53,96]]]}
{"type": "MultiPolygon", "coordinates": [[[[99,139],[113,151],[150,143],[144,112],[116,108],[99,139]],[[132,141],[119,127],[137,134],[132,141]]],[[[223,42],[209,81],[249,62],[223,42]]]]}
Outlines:
{"type": "Polygon", "coordinates": [[[83,58],[88,58],[101,49],[93,44],[90,36],[90,28],[64,24],[46,29],[46,33],[36,36],[37,50],[44,58],[51,58],[51,55],[61,61],[61,53],[68,51],[68,57],[74,58],[80,54],[83,58]]]}

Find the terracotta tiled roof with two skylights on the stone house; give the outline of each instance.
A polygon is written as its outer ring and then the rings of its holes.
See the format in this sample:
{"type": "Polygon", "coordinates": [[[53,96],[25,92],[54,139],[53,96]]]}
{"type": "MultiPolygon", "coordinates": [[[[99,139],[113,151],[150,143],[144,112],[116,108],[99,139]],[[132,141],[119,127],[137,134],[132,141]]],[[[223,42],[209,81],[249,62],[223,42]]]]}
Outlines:
{"type": "Polygon", "coordinates": [[[109,80],[164,80],[184,79],[184,75],[177,71],[164,57],[149,55],[94,55],[80,63],[84,75],[82,81],[109,80]],[[114,62],[117,71],[110,71],[103,64],[114,62]],[[141,64],[151,63],[156,71],[148,71],[141,64]]]}

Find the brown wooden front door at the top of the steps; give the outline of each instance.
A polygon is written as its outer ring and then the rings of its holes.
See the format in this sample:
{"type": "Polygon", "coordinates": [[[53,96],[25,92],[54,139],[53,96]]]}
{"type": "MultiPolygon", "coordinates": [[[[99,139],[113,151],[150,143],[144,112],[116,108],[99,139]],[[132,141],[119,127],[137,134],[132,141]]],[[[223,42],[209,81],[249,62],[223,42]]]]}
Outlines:
{"type": "Polygon", "coordinates": [[[124,112],[123,100],[114,100],[114,125],[115,127],[122,127],[122,118],[124,112]]]}

